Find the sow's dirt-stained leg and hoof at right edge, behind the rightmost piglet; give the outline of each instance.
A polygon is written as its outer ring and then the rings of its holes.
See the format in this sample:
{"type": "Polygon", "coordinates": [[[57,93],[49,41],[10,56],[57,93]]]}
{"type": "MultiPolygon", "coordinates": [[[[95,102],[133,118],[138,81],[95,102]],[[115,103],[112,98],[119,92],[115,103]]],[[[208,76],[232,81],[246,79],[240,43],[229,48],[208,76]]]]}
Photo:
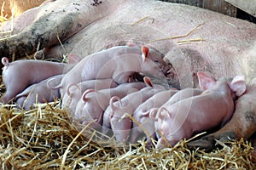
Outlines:
{"type": "MultiPolygon", "coordinates": [[[[226,142],[230,139],[247,139],[256,132],[256,78],[247,84],[245,94],[236,99],[236,108],[230,122],[221,127],[217,132],[210,133],[201,139],[189,142],[189,148],[201,148],[212,150],[216,143],[215,139],[226,142]]],[[[254,135],[255,138],[256,135],[254,135]]],[[[255,140],[256,146],[256,140],[255,140]]],[[[256,156],[256,151],[254,150],[256,156]]],[[[255,159],[256,160],[256,159],[255,159]]]]}

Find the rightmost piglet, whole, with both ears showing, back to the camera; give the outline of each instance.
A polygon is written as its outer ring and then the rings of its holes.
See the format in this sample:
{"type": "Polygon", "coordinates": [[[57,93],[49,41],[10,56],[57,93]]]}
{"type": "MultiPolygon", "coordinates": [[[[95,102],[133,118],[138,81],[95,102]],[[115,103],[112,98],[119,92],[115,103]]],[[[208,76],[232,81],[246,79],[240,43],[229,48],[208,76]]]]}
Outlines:
{"type": "Polygon", "coordinates": [[[223,125],[233,114],[236,96],[246,91],[242,76],[235,77],[232,82],[224,79],[216,81],[212,75],[201,71],[197,76],[205,92],[168,107],[160,107],[156,115],[150,115],[157,121],[155,128],[161,135],[158,149],[165,146],[165,139],[173,146],[181,139],[189,139],[193,133],[223,125]]]}

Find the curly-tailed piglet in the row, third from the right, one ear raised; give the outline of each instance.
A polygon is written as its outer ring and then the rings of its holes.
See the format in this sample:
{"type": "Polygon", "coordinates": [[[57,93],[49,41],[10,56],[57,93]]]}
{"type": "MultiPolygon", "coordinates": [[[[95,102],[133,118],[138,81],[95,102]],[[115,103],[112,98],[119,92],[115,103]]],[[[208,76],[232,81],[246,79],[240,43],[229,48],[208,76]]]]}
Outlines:
{"type": "Polygon", "coordinates": [[[128,94],[123,99],[117,96],[110,99],[109,106],[103,116],[102,134],[107,135],[111,127],[118,142],[127,142],[131,130],[131,118],[125,114],[132,116],[133,112],[144,101],[154,94],[166,90],[166,88],[157,85],[154,85],[153,88],[152,82],[150,82],[148,77],[144,77],[144,82],[149,87],[143,88],[139,92],[128,94]]]}

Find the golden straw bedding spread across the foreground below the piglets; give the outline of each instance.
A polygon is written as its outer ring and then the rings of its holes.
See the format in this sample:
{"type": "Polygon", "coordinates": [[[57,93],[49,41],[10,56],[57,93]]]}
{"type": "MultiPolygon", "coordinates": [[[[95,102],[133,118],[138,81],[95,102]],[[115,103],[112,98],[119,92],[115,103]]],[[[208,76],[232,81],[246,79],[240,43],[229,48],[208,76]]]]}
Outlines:
{"type": "Polygon", "coordinates": [[[255,169],[253,148],[243,139],[210,153],[189,150],[186,141],[161,151],[147,150],[143,141],[116,147],[112,140],[94,142],[95,133],[84,138],[58,102],[31,111],[2,105],[0,114],[2,169],[255,169]]]}

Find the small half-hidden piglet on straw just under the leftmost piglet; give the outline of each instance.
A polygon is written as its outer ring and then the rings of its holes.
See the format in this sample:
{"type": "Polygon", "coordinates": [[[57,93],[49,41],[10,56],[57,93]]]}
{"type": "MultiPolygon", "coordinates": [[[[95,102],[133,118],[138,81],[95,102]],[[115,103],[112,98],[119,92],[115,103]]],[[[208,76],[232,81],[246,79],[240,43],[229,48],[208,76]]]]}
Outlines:
{"type": "Polygon", "coordinates": [[[61,82],[62,77],[63,75],[57,75],[54,77],[49,77],[42,82],[32,84],[23,92],[16,95],[15,100],[17,105],[27,111],[33,104],[44,103],[45,101],[51,102],[57,98],[60,98],[60,89],[49,88],[48,82],[51,79],[55,79],[55,84],[53,85],[57,85],[61,82]]]}

